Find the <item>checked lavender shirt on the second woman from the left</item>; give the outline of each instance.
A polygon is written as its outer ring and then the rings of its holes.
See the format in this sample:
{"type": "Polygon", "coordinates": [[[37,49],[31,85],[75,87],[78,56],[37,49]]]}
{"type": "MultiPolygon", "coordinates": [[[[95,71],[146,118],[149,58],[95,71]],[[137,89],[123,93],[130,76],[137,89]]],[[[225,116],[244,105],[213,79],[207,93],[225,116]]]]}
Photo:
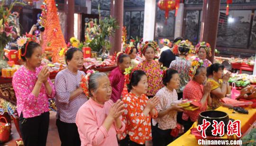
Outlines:
{"type": "Polygon", "coordinates": [[[78,109],[88,100],[84,93],[69,100],[71,93],[79,87],[82,76],[85,76],[83,71],[78,70],[77,74],[74,74],[69,69],[64,69],[55,77],[56,118],[63,122],[75,123],[78,109]]]}

